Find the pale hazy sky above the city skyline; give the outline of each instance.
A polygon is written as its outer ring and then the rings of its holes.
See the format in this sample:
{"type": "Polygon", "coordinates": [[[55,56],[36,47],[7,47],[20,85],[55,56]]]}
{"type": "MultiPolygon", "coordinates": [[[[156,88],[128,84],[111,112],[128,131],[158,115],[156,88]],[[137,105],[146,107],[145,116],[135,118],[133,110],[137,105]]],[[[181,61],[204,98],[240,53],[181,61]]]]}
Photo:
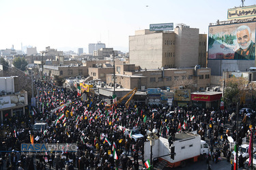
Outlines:
{"type": "MultiPolygon", "coordinates": [[[[246,0],[255,5],[256,0],[246,0]]],[[[38,52],[84,48],[101,41],[128,52],[129,35],[150,24],[173,22],[199,28],[227,20],[227,9],[240,0],[1,0],[0,49],[36,46],[38,52]]]]}

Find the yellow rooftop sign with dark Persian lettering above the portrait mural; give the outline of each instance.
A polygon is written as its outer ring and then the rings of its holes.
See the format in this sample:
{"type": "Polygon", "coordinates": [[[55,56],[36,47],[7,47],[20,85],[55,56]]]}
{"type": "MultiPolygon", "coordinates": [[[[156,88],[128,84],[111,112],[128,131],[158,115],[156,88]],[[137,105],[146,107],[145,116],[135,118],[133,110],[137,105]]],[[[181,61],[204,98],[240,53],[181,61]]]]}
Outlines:
{"type": "Polygon", "coordinates": [[[244,20],[248,18],[256,18],[256,5],[227,10],[227,20],[244,20]]]}

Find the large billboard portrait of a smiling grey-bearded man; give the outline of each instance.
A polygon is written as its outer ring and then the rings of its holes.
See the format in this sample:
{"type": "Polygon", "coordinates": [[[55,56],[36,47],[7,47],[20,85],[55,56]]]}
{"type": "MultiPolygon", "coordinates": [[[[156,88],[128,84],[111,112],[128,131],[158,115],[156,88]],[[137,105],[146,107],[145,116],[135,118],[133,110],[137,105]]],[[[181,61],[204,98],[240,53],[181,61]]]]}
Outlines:
{"type": "Polygon", "coordinates": [[[255,60],[256,22],[209,27],[208,60],[255,60]]]}

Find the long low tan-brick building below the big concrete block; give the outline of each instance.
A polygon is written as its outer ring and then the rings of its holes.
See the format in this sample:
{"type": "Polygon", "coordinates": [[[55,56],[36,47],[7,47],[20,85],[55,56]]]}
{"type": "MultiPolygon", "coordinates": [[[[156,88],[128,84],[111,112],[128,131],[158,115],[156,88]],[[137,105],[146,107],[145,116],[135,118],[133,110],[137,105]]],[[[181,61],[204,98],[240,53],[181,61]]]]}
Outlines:
{"type": "MultiPolygon", "coordinates": [[[[175,84],[193,85],[194,90],[205,90],[211,83],[211,69],[190,67],[185,69],[138,70],[135,65],[116,65],[116,83],[124,88],[162,88],[175,84]]],[[[106,75],[106,84],[113,84],[113,74],[106,75]]]]}

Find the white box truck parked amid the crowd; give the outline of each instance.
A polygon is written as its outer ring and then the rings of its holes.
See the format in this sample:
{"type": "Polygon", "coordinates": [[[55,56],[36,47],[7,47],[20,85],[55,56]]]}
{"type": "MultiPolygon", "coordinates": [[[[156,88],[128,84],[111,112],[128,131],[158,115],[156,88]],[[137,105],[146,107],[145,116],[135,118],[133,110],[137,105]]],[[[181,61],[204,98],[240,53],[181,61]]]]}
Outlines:
{"type": "MultiPolygon", "coordinates": [[[[171,146],[168,139],[163,137],[154,140],[152,143],[154,143],[154,146],[152,146],[152,159],[165,160],[168,167],[185,167],[186,162],[197,162],[199,156],[209,154],[208,143],[201,140],[200,135],[194,133],[176,133],[171,146]],[[171,147],[174,147],[174,159],[171,156],[165,156],[171,154],[171,147]]],[[[150,160],[150,147],[150,141],[146,141],[144,143],[144,160],[150,160]]]]}

